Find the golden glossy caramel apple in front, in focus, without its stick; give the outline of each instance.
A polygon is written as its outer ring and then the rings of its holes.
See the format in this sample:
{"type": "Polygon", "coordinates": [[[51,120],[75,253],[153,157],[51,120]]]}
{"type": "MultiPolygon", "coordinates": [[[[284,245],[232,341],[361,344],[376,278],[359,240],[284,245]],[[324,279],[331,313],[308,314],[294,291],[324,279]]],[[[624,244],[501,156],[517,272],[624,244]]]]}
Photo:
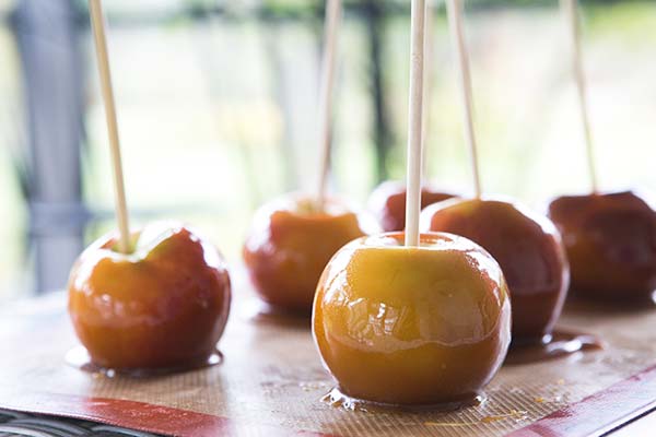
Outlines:
{"type": "Polygon", "coordinates": [[[511,304],[496,261],[475,243],[402,233],[364,237],[326,267],[313,335],[324,366],[353,398],[396,405],[471,400],[511,341],[511,304]]]}

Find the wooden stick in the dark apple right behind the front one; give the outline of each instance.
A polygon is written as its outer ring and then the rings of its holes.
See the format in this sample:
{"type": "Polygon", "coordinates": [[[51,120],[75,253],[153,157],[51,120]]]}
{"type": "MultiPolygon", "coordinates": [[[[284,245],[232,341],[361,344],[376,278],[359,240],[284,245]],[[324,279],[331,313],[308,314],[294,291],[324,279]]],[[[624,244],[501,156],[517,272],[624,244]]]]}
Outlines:
{"type": "Polygon", "coordinates": [[[477,198],[481,197],[481,178],[479,170],[478,145],[473,127],[473,97],[471,91],[471,73],[469,71],[469,55],[462,31],[462,0],[447,0],[448,21],[452,39],[458,60],[460,91],[462,94],[465,135],[471,158],[473,189],[477,198]]]}

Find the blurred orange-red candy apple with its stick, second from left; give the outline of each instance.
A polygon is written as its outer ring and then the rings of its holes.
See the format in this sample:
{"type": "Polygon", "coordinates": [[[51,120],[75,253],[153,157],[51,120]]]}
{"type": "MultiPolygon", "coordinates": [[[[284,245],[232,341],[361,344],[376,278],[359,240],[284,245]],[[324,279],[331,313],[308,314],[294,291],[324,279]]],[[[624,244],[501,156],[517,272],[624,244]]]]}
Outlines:
{"type": "MultiPolygon", "coordinates": [[[[319,165],[314,196],[288,194],[261,206],[244,245],[244,262],[262,300],[285,311],[309,315],[317,281],[335,252],[366,234],[352,206],[327,192],[336,46],[341,0],[326,2],[326,36],[319,104],[319,165]]],[[[372,228],[372,224],[374,225],[372,228]]]]}

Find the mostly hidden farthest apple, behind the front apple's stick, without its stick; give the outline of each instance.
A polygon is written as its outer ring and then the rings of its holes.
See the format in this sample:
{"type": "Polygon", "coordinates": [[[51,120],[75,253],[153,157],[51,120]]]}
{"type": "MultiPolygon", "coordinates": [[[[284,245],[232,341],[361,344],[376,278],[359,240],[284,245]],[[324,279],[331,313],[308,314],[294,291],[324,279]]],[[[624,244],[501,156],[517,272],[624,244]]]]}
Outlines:
{"type": "MultiPolygon", "coordinates": [[[[453,197],[453,194],[425,186],[421,190],[421,208],[424,209],[453,197]]],[[[370,210],[376,215],[383,231],[403,231],[406,228],[406,186],[391,180],[380,184],[372,192],[370,210]]]]}

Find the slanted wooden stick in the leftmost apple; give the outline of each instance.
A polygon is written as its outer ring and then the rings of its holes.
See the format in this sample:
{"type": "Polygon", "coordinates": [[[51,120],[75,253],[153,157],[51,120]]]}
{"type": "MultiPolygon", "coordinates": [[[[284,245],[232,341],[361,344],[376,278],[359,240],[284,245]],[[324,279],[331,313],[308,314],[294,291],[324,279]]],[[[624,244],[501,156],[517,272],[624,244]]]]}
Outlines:
{"type": "Polygon", "coordinates": [[[112,152],[112,166],[114,169],[114,192],[116,218],[118,221],[119,240],[118,250],[122,253],[130,252],[130,227],[128,224],[128,208],[126,202],[126,188],[124,182],[120,158],[120,141],[118,137],[118,122],[116,119],[116,103],[112,86],[112,71],[109,56],[107,55],[107,38],[105,36],[105,16],[101,0],[89,0],[89,10],[95,40],[101,88],[105,102],[105,117],[109,133],[109,150],[112,152]]]}

